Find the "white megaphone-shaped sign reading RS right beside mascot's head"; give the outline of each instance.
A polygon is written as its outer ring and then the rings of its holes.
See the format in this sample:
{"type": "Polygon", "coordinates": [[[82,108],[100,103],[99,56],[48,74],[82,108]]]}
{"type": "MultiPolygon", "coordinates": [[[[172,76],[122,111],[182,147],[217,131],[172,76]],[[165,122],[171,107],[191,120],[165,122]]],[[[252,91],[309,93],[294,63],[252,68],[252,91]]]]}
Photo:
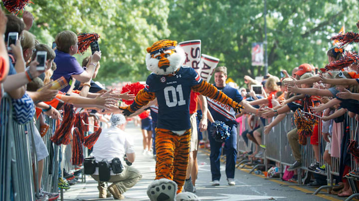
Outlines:
{"type": "Polygon", "coordinates": [[[184,66],[189,66],[199,72],[200,67],[200,40],[183,41],[179,43],[179,46],[183,49],[186,60],[184,66]]]}

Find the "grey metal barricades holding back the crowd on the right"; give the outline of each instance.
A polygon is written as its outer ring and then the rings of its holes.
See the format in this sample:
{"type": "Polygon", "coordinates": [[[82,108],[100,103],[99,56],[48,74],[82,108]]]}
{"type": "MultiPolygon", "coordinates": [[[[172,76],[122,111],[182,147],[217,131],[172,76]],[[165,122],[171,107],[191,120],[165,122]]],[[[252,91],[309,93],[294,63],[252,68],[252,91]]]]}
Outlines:
{"type": "MultiPolygon", "coordinates": [[[[247,125],[247,121],[245,120],[246,117],[243,116],[243,120],[242,120],[242,131],[245,131],[248,128],[247,125]]],[[[356,122],[355,120],[352,120],[352,124],[353,126],[351,126],[351,131],[352,133],[355,132],[355,127],[358,124],[358,122],[356,122]]],[[[283,173],[284,169],[282,166],[287,165],[290,166],[295,162],[295,158],[293,156],[292,153],[292,148],[289,144],[288,138],[287,138],[287,134],[288,132],[290,132],[291,130],[295,129],[295,125],[294,125],[294,114],[293,113],[288,113],[286,115],[286,117],[275,127],[272,128],[272,130],[270,131],[269,134],[267,134],[264,137],[264,145],[266,146],[265,149],[265,157],[264,157],[264,161],[266,161],[267,159],[271,160],[271,161],[275,161],[277,163],[280,164],[281,167],[280,168],[280,172],[283,173]]],[[[321,189],[324,188],[331,188],[333,187],[333,183],[335,183],[335,180],[333,179],[333,176],[338,176],[339,175],[339,165],[340,165],[340,160],[339,158],[334,158],[332,157],[332,165],[329,166],[324,158],[324,151],[326,148],[326,141],[323,139],[323,137],[321,136],[321,121],[319,121],[319,132],[318,132],[318,138],[319,138],[319,162],[321,165],[326,164],[326,171],[325,172],[319,172],[317,171],[317,174],[322,174],[327,176],[327,180],[328,180],[328,185],[323,186],[321,189]]],[[[356,134],[358,135],[358,132],[356,132],[356,134]]],[[[354,134],[352,134],[352,136],[355,136],[354,134]]],[[[356,138],[356,140],[358,141],[358,136],[356,138]]],[[[263,139],[263,137],[262,137],[263,139]]],[[[238,147],[238,151],[239,152],[244,152],[247,151],[248,147],[245,146],[244,140],[241,137],[238,137],[238,141],[237,141],[237,147],[238,147]]],[[[302,153],[302,167],[301,169],[307,170],[307,171],[311,171],[314,172],[312,170],[309,170],[308,167],[311,166],[313,163],[315,163],[317,160],[315,159],[315,155],[314,155],[314,149],[313,146],[310,143],[310,138],[308,138],[307,140],[307,144],[304,146],[301,146],[301,153],[302,153]]],[[[358,164],[352,159],[352,169],[358,169],[358,164]]],[[[267,167],[266,167],[267,169],[267,167]]],[[[298,172],[300,172],[298,170],[298,172]]],[[[281,175],[282,176],[282,175],[281,175]]],[[[298,175],[298,184],[301,185],[301,174],[298,175]]],[[[320,190],[321,190],[320,189],[320,190]]],[[[318,191],[319,192],[319,191],[318,191]]],[[[317,194],[318,192],[315,192],[315,194],[317,194]]]]}

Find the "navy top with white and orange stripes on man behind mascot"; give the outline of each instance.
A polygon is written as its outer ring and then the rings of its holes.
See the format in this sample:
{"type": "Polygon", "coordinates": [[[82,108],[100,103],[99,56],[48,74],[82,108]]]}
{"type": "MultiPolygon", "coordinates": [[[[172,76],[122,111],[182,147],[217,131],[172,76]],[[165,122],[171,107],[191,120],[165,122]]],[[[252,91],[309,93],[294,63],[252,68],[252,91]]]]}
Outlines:
{"type": "MultiPolygon", "coordinates": [[[[216,85],[214,85],[217,87],[216,85]]],[[[235,88],[226,85],[225,87],[217,87],[218,90],[222,91],[225,95],[227,95],[232,100],[240,103],[242,101],[242,96],[239,94],[238,90],[235,88]]],[[[217,100],[210,99],[207,97],[208,109],[211,113],[214,120],[225,122],[226,124],[234,124],[235,121],[235,111],[234,109],[223,103],[218,102],[217,100]]]]}

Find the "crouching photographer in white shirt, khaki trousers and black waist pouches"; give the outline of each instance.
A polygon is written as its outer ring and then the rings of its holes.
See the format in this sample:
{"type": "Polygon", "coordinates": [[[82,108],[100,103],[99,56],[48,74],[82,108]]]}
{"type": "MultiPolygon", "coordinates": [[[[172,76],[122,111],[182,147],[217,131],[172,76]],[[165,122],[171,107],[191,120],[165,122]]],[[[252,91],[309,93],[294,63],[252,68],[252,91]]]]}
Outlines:
{"type": "Polygon", "coordinates": [[[141,178],[141,173],[124,161],[126,154],[130,163],[135,161],[135,147],[129,134],[122,129],[126,119],[122,114],[114,114],[111,127],[104,129],[93,146],[92,158],[84,162],[85,174],[91,174],[98,182],[99,198],[106,198],[105,183],[112,183],[107,190],[115,199],[122,200],[128,189],[141,178]],[[121,128],[121,129],[120,129],[121,128]]]}

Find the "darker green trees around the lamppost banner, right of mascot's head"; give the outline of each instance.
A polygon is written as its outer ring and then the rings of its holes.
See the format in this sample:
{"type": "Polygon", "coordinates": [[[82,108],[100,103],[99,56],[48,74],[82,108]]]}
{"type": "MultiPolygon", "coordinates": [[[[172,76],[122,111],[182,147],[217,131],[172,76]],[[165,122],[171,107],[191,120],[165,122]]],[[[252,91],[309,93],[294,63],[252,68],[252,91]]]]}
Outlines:
{"type": "MultiPolygon", "coordinates": [[[[251,67],[251,44],[264,41],[263,0],[173,0],[168,23],[171,39],[200,39],[203,54],[220,58],[237,82],[243,76],[263,75],[264,67],[251,67]]],[[[357,30],[355,0],[267,0],[269,72],[279,75],[302,63],[323,67],[347,16],[346,29],[357,30]],[[353,16],[351,16],[353,15],[353,16]]]]}

